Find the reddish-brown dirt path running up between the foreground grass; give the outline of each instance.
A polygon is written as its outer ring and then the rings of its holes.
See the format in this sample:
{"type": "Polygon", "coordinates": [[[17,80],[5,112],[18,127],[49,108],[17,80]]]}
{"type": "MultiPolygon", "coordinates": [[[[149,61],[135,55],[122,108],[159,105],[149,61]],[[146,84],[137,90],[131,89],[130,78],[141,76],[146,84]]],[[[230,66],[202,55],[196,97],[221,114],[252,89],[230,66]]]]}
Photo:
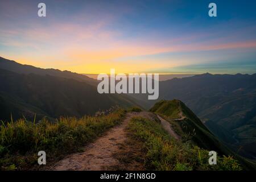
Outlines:
{"type": "Polygon", "coordinates": [[[88,144],[84,152],[67,156],[57,163],[53,170],[99,171],[118,165],[118,160],[114,159],[112,154],[118,152],[118,144],[126,140],[125,128],[130,119],[143,113],[128,113],[121,125],[113,127],[105,135],[88,144]]]}

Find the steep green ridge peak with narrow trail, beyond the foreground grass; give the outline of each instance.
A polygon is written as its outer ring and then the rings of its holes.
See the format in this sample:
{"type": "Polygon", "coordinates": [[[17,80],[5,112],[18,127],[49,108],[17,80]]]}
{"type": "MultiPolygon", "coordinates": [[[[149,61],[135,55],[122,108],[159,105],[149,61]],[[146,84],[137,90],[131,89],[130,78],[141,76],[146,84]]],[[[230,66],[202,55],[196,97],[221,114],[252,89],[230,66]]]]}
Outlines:
{"type": "Polygon", "coordinates": [[[179,100],[161,100],[150,109],[170,122],[172,128],[181,137],[182,142],[191,141],[196,146],[218,155],[234,156],[247,169],[255,169],[255,164],[225,146],[205,127],[204,123],[183,102],[179,100]]]}

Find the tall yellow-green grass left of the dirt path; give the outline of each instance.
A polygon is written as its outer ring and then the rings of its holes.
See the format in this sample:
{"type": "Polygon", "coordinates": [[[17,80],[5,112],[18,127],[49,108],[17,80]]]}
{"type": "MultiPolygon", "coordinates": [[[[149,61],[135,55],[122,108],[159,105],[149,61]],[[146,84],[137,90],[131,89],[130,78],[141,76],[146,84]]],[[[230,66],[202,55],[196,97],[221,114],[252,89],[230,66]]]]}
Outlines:
{"type": "MultiPolygon", "coordinates": [[[[47,167],[118,125],[125,110],[97,117],[60,118],[55,123],[19,119],[0,126],[0,170],[40,169],[38,151],[46,151],[47,167]]],[[[47,168],[44,166],[44,168],[47,168]]]]}

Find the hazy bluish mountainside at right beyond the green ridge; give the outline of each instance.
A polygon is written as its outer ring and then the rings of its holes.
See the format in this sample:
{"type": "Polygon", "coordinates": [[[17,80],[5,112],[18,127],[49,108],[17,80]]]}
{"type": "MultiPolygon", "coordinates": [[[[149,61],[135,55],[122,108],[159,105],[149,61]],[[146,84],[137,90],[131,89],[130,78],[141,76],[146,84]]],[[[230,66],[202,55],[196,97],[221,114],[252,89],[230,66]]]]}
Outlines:
{"type": "MultiPolygon", "coordinates": [[[[132,97],[144,107],[145,94],[132,97]]],[[[256,156],[256,74],[211,75],[205,73],[159,82],[160,100],[180,100],[233,151],[255,159],[256,156]]]]}

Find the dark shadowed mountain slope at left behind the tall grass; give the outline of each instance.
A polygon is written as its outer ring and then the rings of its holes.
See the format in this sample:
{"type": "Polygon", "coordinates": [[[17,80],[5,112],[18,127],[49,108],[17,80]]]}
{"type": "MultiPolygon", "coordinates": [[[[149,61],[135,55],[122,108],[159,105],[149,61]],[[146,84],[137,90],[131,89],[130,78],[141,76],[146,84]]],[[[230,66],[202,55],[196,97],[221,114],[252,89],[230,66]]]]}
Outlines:
{"type": "Polygon", "coordinates": [[[82,117],[111,106],[136,105],[125,95],[99,94],[97,82],[77,73],[0,61],[0,119],[82,117]],[[8,69],[8,70],[7,70],[8,69]]]}

